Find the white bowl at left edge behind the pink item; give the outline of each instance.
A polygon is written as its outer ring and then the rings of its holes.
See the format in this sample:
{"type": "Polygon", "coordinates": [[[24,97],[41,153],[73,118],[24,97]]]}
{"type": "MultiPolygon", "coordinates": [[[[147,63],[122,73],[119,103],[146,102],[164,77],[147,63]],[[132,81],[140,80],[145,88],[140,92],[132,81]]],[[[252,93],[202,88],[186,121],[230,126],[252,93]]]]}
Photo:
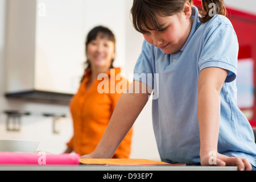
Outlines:
{"type": "Polygon", "coordinates": [[[0,139],[0,152],[36,152],[38,140],[0,139]]]}

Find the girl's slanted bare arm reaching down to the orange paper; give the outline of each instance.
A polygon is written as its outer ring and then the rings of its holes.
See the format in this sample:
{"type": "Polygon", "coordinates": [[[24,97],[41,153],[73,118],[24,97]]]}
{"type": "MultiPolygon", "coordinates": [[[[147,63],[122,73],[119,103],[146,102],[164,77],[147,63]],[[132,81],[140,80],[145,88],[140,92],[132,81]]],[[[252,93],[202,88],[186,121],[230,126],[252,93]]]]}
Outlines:
{"type": "Polygon", "coordinates": [[[147,88],[146,84],[134,81],[129,86],[128,93],[122,94],[98,146],[91,154],[81,156],[81,158],[112,158],[148,101],[151,90],[143,92],[142,88],[147,88]],[[138,85],[139,93],[135,92],[138,85]]]}

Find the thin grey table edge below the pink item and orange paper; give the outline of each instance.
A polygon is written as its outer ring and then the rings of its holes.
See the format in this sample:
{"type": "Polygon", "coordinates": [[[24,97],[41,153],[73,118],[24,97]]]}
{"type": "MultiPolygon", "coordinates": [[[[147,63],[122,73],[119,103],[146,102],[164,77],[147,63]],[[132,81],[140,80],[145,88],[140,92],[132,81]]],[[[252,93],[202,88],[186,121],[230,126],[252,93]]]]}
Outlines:
{"type": "Polygon", "coordinates": [[[104,165],[24,165],[0,166],[0,171],[237,171],[237,167],[217,166],[104,166],[104,165]]]}

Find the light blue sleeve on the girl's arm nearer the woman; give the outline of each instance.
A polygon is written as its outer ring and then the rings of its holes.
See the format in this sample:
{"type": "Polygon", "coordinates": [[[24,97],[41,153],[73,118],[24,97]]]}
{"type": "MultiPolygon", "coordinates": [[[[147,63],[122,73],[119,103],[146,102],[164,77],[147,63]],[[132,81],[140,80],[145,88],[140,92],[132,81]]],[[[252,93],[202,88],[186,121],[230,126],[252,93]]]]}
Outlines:
{"type": "Polygon", "coordinates": [[[142,81],[151,88],[154,88],[154,50],[144,40],[142,52],[134,67],[133,80],[142,81]]]}

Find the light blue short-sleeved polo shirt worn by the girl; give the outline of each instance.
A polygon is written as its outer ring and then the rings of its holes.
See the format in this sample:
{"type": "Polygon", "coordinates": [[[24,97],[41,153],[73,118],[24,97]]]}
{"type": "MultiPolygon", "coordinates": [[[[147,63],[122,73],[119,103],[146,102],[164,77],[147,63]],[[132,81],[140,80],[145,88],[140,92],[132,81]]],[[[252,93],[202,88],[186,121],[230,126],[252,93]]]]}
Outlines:
{"type": "Polygon", "coordinates": [[[218,152],[247,158],[256,166],[253,130],[236,105],[236,32],[225,16],[215,15],[201,23],[196,7],[192,12],[192,30],[179,51],[166,54],[144,41],[134,68],[134,80],[154,88],[152,119],[160,158],[167,163],[200,163],[199,73],[207,67],[219,67],[229,74],[221,89],[218,152]]]}

